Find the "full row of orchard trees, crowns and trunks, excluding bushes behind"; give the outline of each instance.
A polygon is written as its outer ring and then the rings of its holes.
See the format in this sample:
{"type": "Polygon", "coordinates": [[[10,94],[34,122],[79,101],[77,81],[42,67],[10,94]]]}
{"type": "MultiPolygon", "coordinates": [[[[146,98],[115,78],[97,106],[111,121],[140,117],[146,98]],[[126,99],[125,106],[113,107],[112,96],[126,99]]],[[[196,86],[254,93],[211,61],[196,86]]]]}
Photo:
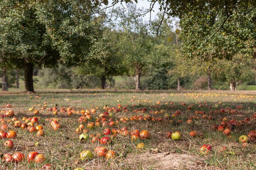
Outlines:
{"type": "MultiPolygon", "coordinates": [[[[162,72],[175,78],[178,89],[191,76],[206,75],[208,89],[216,78],[229,82],[231,90],[238,81],[254,79],[256,17],[250,2],[245,2],[247,8],[243,3],[186,4],[189,12],[179,9],[177,13],[180,29],[163,16],[170,10],[167,2],[164,13],[151,23],[139,17],[145,11],[135,5],[113,8],[108,15],[99,12],[100,3],[83,0],[22,3],[2,3],[0,66],[23,69],[27,91],[34,91],[35,67],[59,65],[78,76],[97,76],[103,89],[106,80],[117,75],[134,76],[135,89],[139,89],[141,75],[152,72],[149,68],[158,70],[155,75],[162,72]]],[[[3,87],[7,86],[5,72],[3,87]]]]}

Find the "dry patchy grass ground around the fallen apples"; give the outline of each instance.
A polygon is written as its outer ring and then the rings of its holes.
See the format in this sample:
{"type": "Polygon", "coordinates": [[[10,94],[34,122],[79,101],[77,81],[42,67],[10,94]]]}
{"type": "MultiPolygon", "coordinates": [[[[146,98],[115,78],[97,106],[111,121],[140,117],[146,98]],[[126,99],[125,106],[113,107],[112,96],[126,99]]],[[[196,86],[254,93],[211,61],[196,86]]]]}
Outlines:
{"type": "MultiPolygon", "coordinates": [[[[25,159],[19,164],[5,163],[0,161],[0,169],[31,169],[41,168],[45,163],[52,164],[55,169],[75,169],[81,167],[84,169],[255,169],[256,158],[256,144],[251,143],[247,147],[242,147],[238,138],[241,135],[247,135],[249,131],[256,130],[256,122],[244,124],[242,127],[237,127],[232,130],[231,138],[223,135],[222,132],[211,130],[210,126],[216,124],[219,126],[219,118],[227,117],[228,120],[236,119],[236,121],[244,120],[246,117],[251,118],[252,114],[256,112],[256,92],[250,91],[103,91],[103,90],[83,90],[70,91],[63,89],[53,90],[36,90],[35,94],[25,94],[20,92],[7,92],[0,94],[0,105],[4,106],[8,103],[13,105],[12,108],[1,108],[0,110],[12,109],[15,111],[15,117],[22,120],[22,117],[33,117],[33,112],[27,111],[30,107],[35,105],[35,109],[39,110],[40,117],[39,124],[45,130],[44,137],[37,137],[36,133],[29,133],[27,130],[20,128],[13,128],[17,132],[17,137],[13,139],[14,147],[6,149],[3,145],[5,140],[1,139],[0,153],[22,152],[25,157],[32,151],[42,153],[45,155],[45,162],[42,164],[28,163],[25,159]],[[41,99],[36,99],[36,96],[41,99]],[[30,99],[29,96],[33,98],[30,99]],[[134,100],[134,101],[132,101],[134,100]],[[148,100],[144,102],[144,100],[148,100]],[[161,101],[159,107],[154,107],[157,102],[161,101]],[[38,104],[47,103],[47,108],[41,110],[38,104]],[[166,102],[168,104],[166,104],[166,102]],[[173,102],[174,104],[170,104],[173,102]],[[186,103],[183,106],[181,103],[186,103]],[[203,107],[199,107],[199,102],[203,107]],[[207,102],[207,106],[204,106],[207,102]],[[221,102],[221,103],[219,103],[221,102]],[[95,122],[96,116],[104,112],[103,107],[117,107],[121,104],[126,106],[128,112],[113,113],[114,121],[121,117],[128,117],[128,122],[120,122],[115,128],[121,129],[125,126],[129,131],[148,130],[151,134],[150,139],[131,141],[129,136],[117,135],[117,138],[107,145],[108,150],[116,152],[116,158],[107,160],[106,158],[99,158],[94,152],[98,144],[91,143],[91,139],[80,143],[79,134],[75,130],[81,124],[78,118],[81,114],[72,114],[58,112],[58,115],[53,115],[52,112],[47,111],[49,107],[57,106],[71,107],[75,111],[82,109],[91,109],[99,107],[97,113],[92,114],[93,120],[88,122],[95,122]],[[194,104],[192,110],[187,110],[190,104],[194,104]],[[235,114],[230,113],[213,113],[216,108],[209,109],[209,106],[218,104],[217,110],[225,107],[236,109],[235,114]],[[93,106],[92,106],[93,105],[93,106]],[[136,105],[136,106],[132,106],[136,105]],[[152,105],[152,106],[151,106],[152,105]],[[177,105],[177,106],[175,106],[177,105]],[[236,106],[243,106],[243,109],[237,109],[236,106]],[[145,113],[134,113],[134,109],[146,107],[145,113]],[[151,107],[151,108],[150,108],[151,107]],[[151,115],[154,117],[163,118],[165,114],[149,113],[150,110],[160,111],[164,109],[170,115],[169,120],[161,122],[148,121],[130,121],[133,115],[151,115]],[[171,115],[175,111],[180,110],[181,114],[177,117],[171,115]],[[206,115],[212,115],[213,119],[194,119],[192,123],[186,123],[189,116],[195,115],[195,111],[204,111],[206,115]],[[45,118],[59,118],[61,129],[56,131],[50,125],[50,122],[45,121],[45,118]],[[172,121],[170,121],[172,120],[172,121]],[[182,123],[177,123],[182,120],[182,123]],[[182,138],[179,141],[174,141],[166,137],[167,131],[179,131],[182,138]],[[201,137],[190,137],[189,133],[195,130],[201,137]],[[38,142],[38,143],[37,143],[38,142]],[[136,149],[136,145],[143,142],[145,148],[142,150],[136,149]],[[200,146],[203,144],[210,144],[212,146],[211,153],[203,156],[199,152],[200,146]],[[226,146],[227,150],[220,151],[226,146]],[[94,157],[89,160],[79,159],[79,153],[83,150],[90,150],[94,157]]],[[[23,122],[23,121],[21,121],[23,122]]],[[[86,126],[87,123],[85,123],[86,126]]],[[[102,134],[105,127],[98,127],[89,130],[89,134],[102,134]]],[[[6,139],[7,140],[7,139],[6,139]]]]}

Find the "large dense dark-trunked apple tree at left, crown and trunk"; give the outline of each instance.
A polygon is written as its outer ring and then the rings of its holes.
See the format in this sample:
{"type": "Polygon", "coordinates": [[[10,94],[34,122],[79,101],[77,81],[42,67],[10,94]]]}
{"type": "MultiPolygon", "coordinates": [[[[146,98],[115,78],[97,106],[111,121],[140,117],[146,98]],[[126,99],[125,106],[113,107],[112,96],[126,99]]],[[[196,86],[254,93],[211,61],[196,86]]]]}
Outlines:
{"type": "Polygon", "coordinates": [[[16,8],[19,2],[4,0],[2,5],[1,63],[24,69],[27,91],[34,92],[35,66],[72,66],[86,58],[93,38],[87,1],[35,2],[22,11],[16,8]]]}

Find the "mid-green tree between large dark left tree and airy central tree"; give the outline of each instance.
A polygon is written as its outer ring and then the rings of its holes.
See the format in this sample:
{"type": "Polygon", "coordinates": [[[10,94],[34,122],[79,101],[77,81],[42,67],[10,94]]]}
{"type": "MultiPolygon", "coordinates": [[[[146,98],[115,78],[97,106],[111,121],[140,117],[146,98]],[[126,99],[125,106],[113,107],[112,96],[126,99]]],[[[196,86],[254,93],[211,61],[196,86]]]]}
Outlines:
{"type": "Polygon", "coordinates": [[[78,68],[80,75],[93,74],[101,79],[101,88],[106,88],[106,80],[110,80],[112,76],[123,75],[127,71],[123,65],[122,56],[119,55],[118,33],[111,30],[107,26],[106,19],[99,17],[95,25],[95,39],[93,45],[89,48],[86,62],[82,63],[78,68]]]}

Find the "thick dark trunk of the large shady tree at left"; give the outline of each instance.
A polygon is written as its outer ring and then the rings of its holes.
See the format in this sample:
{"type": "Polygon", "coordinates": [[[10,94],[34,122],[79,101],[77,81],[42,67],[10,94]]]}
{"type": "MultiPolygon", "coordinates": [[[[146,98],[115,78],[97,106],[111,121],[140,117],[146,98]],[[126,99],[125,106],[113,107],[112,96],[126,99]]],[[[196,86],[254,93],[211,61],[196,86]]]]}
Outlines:
{"type": "Polygon", "coordinates": [[[35,92],[33,85],[33,64],[24,60],[25,89],[27,92],[35,92]]]}

